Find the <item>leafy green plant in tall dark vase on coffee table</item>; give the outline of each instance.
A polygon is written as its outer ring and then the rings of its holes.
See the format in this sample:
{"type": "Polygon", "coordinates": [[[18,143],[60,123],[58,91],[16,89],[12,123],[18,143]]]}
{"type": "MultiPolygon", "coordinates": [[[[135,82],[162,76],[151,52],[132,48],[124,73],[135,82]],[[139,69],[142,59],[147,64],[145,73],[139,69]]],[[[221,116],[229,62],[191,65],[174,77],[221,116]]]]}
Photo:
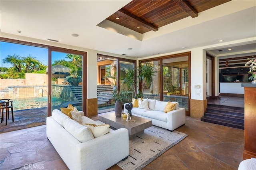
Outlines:
{"type": "Polygon", "coordinates": [[[112,97],[116,101],[116,103],[115,103],[116,117],[121,117],[122,101],[124,101],[124,99],[128,99],[128,91],[124,91],[123,89],[121,91],[118,91],[117,88],[114,88],[112,97]]]}

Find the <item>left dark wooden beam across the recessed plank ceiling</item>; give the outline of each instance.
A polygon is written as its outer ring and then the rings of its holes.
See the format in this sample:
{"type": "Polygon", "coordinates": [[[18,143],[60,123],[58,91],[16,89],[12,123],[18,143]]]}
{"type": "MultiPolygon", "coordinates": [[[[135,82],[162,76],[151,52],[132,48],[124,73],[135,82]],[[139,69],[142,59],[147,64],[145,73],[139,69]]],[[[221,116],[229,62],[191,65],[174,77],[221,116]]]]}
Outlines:
{"type": "Polygon", "coordinates": [[[141,18],[131,14],[130,12],[124,10],[124,9],[120,9],[119,11],[116,12],[116,14],[129,18],[130,20],[133,20],[134,22],[140,23],[142,26],[153,30],[153,31],[158,31],[158,27],[154,26],[153,24],[150,24],[148,22],[146,22],[145,20],[142,20],[141,18]]]}

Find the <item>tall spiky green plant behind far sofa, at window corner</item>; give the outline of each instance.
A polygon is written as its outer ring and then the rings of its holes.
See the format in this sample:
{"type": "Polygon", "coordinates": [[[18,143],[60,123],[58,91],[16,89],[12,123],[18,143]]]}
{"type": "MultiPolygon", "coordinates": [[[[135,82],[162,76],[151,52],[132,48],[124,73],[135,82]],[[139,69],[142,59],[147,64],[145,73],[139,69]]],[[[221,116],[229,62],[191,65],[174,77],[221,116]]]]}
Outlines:
{"type": "Polygon", "coordinates": [[[157,71],[156,71],[156,68],[154,67],[154,65],[151,63],[140,63],[140,65],[138,67],[138,71],[139,71],[138,79],[142,85],[141,93],[142,93],[142,97],[143,97],[143,93],[144,93],[146,84],[152,83],[155,73],[157,71]]]}

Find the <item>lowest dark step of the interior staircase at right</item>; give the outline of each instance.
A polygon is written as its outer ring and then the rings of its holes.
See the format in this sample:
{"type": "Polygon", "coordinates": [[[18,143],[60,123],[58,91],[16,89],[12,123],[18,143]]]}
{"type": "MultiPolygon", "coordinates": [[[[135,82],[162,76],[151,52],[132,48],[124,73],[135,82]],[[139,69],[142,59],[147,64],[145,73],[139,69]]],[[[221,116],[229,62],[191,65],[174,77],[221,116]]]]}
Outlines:
{"type": "Polygon", "coordinates": [[[244,123],[237,123],[234,121],[227,121],[227,120],[216,119],[216,118],[208,118],[205,116],[201,117],[201,121],[208,122],[208,123],[214,123],[217,125],[223,125],[223,126],[227,126],[227,127],[244,129],[244,123]]]}

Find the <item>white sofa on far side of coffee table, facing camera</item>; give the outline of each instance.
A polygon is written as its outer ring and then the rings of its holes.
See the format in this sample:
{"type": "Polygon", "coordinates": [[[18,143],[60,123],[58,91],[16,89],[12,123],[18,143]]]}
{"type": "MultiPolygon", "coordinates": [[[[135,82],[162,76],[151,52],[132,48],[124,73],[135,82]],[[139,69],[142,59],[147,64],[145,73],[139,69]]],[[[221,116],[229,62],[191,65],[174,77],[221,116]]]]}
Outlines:
{"type": "MultiPolygon", "coordinates": [[[[148,99],[149,109],[140,109],[138,107],[133,107],[132,115],[149,119],[152,121],[152,125],[166,128],[170,131],[173,131],[176,128],[185,124],[186,111],[184,108],[179,107],[178,102],[172,102],[172,103],[176,103],[174,110],[168,113],[164,113],[164,109],[167,103],[168,103],[167,101],[158,101],[155,99],[148,99]]],[[[127,103],[124,104],[125,113],[128,112],[125,109],[126,104],[127,103]]]]}

